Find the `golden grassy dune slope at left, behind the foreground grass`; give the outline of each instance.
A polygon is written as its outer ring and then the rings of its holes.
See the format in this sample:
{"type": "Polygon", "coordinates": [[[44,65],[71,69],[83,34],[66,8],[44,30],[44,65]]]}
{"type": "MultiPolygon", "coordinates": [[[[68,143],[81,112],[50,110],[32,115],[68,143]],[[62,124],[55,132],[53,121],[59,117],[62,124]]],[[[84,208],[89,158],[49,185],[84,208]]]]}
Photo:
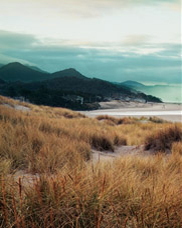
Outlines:
{"type": "Polygon", "coordinates": [[[114,127],[79,113],[70,111],[72,118],[68,118],[64,109],[37,107],[41,110],[37,116],[34,109],[26,113],[0,109],[0,156],[12,170],[55,172],[65,165],[84,164],[91,148],[114,151],[116,145],[126,144],[125,136],[114,127]]]}

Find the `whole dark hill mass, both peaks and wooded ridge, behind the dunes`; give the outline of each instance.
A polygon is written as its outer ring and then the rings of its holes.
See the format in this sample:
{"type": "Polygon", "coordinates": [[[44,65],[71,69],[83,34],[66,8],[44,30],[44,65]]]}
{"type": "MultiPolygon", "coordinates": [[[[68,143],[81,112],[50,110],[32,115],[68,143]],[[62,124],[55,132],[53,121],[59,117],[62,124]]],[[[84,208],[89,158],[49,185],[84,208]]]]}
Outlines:
{"type": "Polygon", "coordinates": [[[24,97],[30,102],[72,109],[98,108],[98,102],[109,99],[161,102],[159,98],[117,86],[108,81],[88,78],[73,68],[55,73],[30,69],[20,63],[0,68],[2,95],[24,97]]]}

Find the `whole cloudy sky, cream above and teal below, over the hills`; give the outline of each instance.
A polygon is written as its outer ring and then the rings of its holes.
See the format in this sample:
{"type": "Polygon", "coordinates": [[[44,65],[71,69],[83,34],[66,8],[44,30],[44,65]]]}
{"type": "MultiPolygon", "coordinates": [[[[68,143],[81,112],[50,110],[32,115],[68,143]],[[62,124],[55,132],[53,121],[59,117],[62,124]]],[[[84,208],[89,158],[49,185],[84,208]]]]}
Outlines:
{"type": "Polygon", "coordinates": [[[180,0],[0,0],[0,63],[181,83],[180,0]]]}

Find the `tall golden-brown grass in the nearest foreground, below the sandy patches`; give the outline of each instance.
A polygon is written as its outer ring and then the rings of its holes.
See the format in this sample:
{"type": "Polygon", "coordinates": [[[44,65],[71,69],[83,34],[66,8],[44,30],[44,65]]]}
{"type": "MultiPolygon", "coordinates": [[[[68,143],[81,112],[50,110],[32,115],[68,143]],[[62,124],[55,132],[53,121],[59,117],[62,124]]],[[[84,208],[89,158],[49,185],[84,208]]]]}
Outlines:
{"type": "Polygon", "coordinates": [[[2,179],[2,227],[181,227],[182,157],[125,157],[23,186],[2,179]],[[24,225],[25,224],[25,225],[24,225]]]}

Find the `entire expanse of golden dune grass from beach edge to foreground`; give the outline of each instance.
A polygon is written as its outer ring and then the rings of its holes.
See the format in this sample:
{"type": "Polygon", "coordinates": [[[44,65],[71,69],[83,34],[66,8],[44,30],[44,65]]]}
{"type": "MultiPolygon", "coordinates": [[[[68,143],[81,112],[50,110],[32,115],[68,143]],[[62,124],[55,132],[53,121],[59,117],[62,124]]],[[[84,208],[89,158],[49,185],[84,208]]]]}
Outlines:
{"type": "MultiPolygon", "coordinates": [[[[17,104],[0,97],[7,102],[17,104]]],[[[30,111],[0,105],[0,227],[182,227],[181,124],[109,117],[108,124],[18,104],[30,111]],[[170,156],[92,162],[92,148],[114,152],[150,142],[157,151],[156,140],[170,156]]]]}

